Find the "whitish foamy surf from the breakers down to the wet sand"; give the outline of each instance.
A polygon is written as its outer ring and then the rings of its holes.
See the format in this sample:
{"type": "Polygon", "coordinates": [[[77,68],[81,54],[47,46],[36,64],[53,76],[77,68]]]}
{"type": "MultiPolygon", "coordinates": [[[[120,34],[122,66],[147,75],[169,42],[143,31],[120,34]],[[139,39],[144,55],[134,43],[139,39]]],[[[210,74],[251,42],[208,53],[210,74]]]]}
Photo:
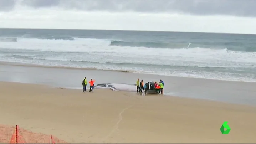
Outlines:
{"type": "Polygon", "coordinates": [[[238,52],[200,47],[176,49],[120,47],[109,46],[111,40],[73,39],[52,40],[20,37],[17,38],[17,42],[0,42],[0,59],[1,61],[35,63],[39,65],[256,81],[254,74],[249,72],[244,74],[236,73],[236,71],[240,71],[243,68],[256,68],[256,52],[238,52]],[[196,70],[194,67],[219,67],[227,70],[221,72],[217,70],[216,72],[203,71],[196,70]]]}

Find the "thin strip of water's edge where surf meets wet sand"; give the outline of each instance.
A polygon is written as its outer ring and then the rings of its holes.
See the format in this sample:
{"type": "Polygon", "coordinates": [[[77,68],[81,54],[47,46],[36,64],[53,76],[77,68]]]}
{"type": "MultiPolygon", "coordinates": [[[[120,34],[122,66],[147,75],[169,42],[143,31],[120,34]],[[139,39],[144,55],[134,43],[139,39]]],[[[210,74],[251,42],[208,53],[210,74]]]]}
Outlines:
{"type": "MultiPolygon", "coordinates": [[[[160,74],[152,74],[152,73],[143,73],[136,72],[130,70],[106,70],[106,69],[98,69],[98,68],[83,68],[83,67],[68,67],[68,66],[50,66],[50,65],[39,65],[34,63],[21,63],[21,62],[6,62],[0,61],[0,65],[11,65],[11,66],[26,66],[26,67],[45,67],[45,68],[64,68],[64,69],[77,69],[77,70],[98,70],[98,71],[113,71],[113,72],[123,72],[123,73],[137,73],[137,74],[148,74],[154,76],[167,76],[167,77],[183,77],[183,76],[171,76],[171,75],[160,75],[160,74]]],[[[183,78],[195,78],[195,79],[209,79],[214,81],[228,81],[228,82],[245,82],[245,83],[256,83],[251,81],[231,81],[226,79],[212,79],[212,78],[199,78],[199,77],[183,77],[183,78]]]]}

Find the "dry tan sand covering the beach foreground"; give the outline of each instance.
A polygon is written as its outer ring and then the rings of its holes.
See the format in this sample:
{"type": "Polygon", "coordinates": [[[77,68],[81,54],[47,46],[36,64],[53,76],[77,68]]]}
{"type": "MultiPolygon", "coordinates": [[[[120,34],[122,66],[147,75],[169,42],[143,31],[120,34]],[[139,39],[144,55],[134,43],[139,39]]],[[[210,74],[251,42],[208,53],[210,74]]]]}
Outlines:
{"type": "Polygon", "coordinates": [[[0,114],[0,124],[69,143],[256,142],[256,107],[108,89],[0,82],[0,114]],[[224,121],[226,135],[219,130],[224,121]]]}

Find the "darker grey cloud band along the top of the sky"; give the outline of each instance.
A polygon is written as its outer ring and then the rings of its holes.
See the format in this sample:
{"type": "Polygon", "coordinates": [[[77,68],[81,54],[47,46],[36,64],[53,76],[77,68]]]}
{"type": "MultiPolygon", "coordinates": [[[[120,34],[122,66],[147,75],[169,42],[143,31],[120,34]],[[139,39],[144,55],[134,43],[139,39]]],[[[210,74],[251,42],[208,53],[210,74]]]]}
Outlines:
{"type": "MultiPolygon", "coordinates": [[[[17,1],[0,0],[0,10],[12,10],[17,1]]],[[[234,15],[256,17],[255,0],[23,0],[19,4],[39,8],[58,6],[83,11],[135,11],[234,15]]]]}

